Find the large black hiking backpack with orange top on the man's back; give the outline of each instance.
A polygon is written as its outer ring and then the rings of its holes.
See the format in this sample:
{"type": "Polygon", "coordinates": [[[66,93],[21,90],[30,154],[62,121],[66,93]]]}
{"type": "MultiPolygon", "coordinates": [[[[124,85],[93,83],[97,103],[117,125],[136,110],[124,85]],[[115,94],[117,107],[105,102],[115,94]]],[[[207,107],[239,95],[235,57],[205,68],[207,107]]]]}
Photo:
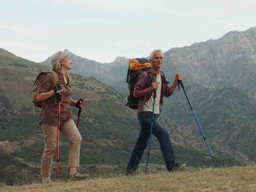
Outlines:
{"type": "Polygon", "coordinates": [[[129,67],[127,71],[126,83],[128,83],[129,88],[129,95],[127,98],[127,104],[129,108],[138,109],[139,102],[138,98],[133,97],[133,89],[135,84],[137,83],[138,76],[144,72],[148,72],[148,78],[145,84],[145,88],[149,87],[152,84],[153,76],[152,73],[149,71],[150,63],[147,59],[140,58],[140,59],[131,59],[129,61],[129,67]]]}

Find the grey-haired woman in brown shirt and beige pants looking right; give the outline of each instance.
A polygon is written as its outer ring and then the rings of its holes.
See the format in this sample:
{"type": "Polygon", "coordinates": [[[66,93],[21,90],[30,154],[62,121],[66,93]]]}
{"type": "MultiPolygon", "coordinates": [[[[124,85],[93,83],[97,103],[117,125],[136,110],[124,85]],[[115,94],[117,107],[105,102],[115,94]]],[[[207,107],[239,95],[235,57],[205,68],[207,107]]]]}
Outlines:
{"type": "Polygon", "coordinates": [[[36,95],[36,101],[43,101],[42,110],[39,115],[39,123],[44,133],[44,152],[41,165],[41,176],[43,182],[51,182],[51,170],[54,151],[56,148],[58,134],[58,102],[60,104],[60,132],[69,139],[69,172],[70,180],[85,179],[87,175],[82,175],[76,171],[79,167],[80,145],[82,137],[72,119],[70,105],[77,108],[83,108],[83,100],[74,101],[71,98],[71,78],[67,71],[71,69],[72,62],[69,59],[68,52],[56,52],[52,56],[52,73],[49,73],[36,95]],[[53,76],[58,76],[57,85],[51,88],[53,76]],[[61,97],[60,97],[61,93],[61,97]]]}

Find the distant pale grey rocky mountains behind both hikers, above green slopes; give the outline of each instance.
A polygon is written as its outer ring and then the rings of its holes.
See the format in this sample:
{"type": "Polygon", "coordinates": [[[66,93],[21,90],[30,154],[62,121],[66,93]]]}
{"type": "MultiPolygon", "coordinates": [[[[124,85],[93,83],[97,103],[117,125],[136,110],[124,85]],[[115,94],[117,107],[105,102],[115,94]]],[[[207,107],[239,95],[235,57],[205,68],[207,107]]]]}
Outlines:
{"type": "MultiPolygon", "coordinates": [[[[87,60],[70,52],[72,72],[110,84],[124,92],[128,58],[117,57],[112,63],[87,60]]],[[[51,58],[42,62],[50,65],[51,58]]],[[[184,81],[214,88],[236,87],[256,100],[256,27],[230,31],[216,40],[195,43],[164,52],[163,71],[167,79],[181,73],[184,81]]]]}

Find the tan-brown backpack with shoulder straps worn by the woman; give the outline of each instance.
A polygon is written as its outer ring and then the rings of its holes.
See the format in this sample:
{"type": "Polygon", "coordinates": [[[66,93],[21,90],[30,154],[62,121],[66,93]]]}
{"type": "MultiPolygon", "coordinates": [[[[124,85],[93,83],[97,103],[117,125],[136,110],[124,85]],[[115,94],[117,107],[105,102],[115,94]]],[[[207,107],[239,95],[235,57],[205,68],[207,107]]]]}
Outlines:
{"type": "MultiPolygon", "coordinates": [[[[32,101],[32,103],[34,103],[34,106],[36,106],[36,107],[41,108],[42,105],[43,105],[44,101],[36,102],[36,95],[39,92],[40,87],[41,87],[42,83],[44,82],[45,78],[48,75],[51,75],[51,73],[53,75],[52,84],[51,84],[51,90],[52,90],[52,89],[54,89],[54,87],[56,86],[56,84],[58,82],[58,74],[55,71],[45,71],[45,72],[40,73],[36,77],[36,81],[34,83],[34,86],[33,86],[33,89],[32,89],[32,95],[31,95],[31,101],[32,101]]],[[[70,75],[68,73],[66,73],[66,76],[68,77],[69,84],[71,84],[70,75]]]]}

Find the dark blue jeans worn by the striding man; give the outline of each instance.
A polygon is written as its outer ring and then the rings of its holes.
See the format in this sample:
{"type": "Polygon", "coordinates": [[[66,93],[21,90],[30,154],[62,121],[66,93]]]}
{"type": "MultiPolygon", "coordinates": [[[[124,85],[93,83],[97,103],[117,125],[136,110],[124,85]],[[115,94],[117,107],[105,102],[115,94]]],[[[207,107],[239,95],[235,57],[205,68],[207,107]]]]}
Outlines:
{"type": "MultiPolygon", "coordinates": [[[[126,174],[130,175],[138,168],[140,159],[144,150],[148,146],[148,139],[150,135],[150,128],[152,123],[152,112],[138,113],[138,120],[140,123],[140,134],[137,143],[132,151],[132,156],[127,166],[126,174]]],[[[166,168],[169,170],[175,163],[174,153],[172,149],[172,143],[169,138],[169,134],[164,130],[164,127],[156,122],[158,114],[154,114],[154,124],[152,133],[156,136],[160,143],[161,151],[164,156],[166,168]]]]}

